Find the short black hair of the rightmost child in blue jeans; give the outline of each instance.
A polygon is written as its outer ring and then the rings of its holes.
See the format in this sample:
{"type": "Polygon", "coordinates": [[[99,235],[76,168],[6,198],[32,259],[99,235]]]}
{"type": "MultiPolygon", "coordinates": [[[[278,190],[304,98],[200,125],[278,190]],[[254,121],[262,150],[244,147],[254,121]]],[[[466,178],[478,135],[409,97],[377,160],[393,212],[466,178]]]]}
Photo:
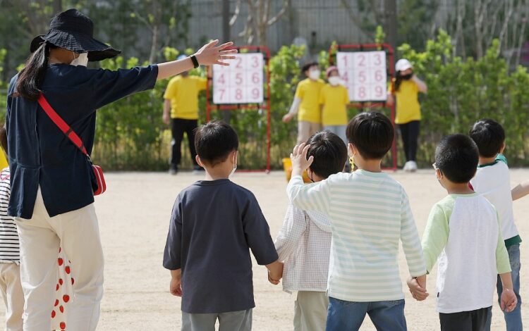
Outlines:
{"type": "Polygon", "coordinates": [[[484,158],[496,156],[505,142],[504,128],[495,120],[488,118],[483,118],[474,123],[469,135],[478,145],[480,156],[484,158]]]}

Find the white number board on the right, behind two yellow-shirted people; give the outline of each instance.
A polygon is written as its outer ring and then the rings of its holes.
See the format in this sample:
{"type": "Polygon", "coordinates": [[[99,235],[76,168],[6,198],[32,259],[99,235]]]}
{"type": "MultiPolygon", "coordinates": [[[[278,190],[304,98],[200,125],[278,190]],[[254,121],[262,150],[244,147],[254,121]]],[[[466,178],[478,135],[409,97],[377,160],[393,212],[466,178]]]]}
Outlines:
{"type": "Polygon", "coordinates": [[[336,64],[346,82],[351,101],[386,101],[387,75],[384,51],[336,54],[336,64]]]}

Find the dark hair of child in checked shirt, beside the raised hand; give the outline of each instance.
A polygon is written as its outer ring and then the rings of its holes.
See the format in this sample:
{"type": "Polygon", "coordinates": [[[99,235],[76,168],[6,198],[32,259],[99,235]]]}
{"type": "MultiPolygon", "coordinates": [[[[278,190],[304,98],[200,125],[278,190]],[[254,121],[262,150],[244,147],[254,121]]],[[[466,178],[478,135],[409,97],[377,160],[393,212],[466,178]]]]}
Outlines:
{"type": "Polygon", "coordinates": [[[308,139],[307,157],[314,156],[310,165],[316,175],[323,179],[343,170],[347,161],[347,147],[343,140],[330,131],[317,132],[308,139]]]}

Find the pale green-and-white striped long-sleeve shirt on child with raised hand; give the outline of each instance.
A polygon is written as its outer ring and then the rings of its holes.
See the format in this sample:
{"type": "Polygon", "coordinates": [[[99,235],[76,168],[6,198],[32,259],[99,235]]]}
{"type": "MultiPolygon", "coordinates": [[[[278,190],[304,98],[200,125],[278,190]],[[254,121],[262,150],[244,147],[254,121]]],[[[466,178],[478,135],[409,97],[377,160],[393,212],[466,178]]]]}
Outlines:
{"type": "Polygon", "coordinates": [[[311,185],[303,185],[302,177],[295,176],[287,194],[294,206],[329,216],[329,296],[346,301],[403,299],[399,241],[411,276],[425,275],[408,196],[386,173],[356,170],[311,185]]]}

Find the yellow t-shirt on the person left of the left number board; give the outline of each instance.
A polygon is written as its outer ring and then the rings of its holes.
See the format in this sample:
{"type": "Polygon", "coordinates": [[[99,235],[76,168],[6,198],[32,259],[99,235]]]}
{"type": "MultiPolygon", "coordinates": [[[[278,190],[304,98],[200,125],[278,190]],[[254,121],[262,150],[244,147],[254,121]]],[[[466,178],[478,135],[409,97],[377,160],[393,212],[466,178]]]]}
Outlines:
{"type": "Polygon", "coordinates": [[[202,77],[178,75],[169,81],[164,99],[171,100],[171,118],[198,119],[198,93],[207,87],[202,77]]]}

